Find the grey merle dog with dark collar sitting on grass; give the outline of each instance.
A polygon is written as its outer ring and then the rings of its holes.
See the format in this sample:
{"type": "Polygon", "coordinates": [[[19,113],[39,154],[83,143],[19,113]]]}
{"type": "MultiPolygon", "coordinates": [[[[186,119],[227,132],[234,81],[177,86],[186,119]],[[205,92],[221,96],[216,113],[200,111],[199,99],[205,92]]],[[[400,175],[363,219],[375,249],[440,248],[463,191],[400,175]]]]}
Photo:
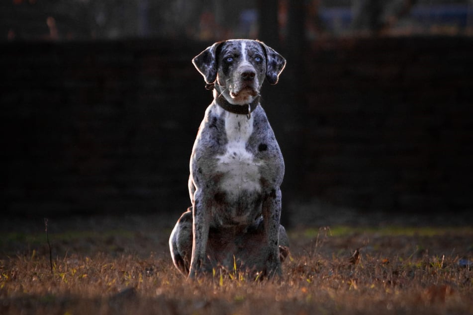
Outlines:
{"type": "Polygon", "coordinates": [[[217,42],[192,59],[213,89],[190,157],[191,207],[169,245],[189,278],[215,268],[282,275],[288,238],[281,218],[284,160],[260,105],[266,79],[278,82],[285,59],[256,40],[217,42]]]}

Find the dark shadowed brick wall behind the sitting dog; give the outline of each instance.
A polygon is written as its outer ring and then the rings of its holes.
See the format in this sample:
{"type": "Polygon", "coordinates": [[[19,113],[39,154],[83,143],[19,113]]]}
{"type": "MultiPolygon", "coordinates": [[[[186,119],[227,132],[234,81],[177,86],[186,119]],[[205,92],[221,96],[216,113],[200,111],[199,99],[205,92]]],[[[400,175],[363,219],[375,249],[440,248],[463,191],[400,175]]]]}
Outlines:
{"type": "MultiPolygon", "coordinates": [[[[263,90],[263,100],[284,102],[265,106],[290,163],[284,190],[366,210],[473,208],[472,44],[314,43],[297,91],[305,104],[290,103],[290,75],[263,90]],[[286,119],[292,108],[297,126],[286,119]]],[[[7,214],[184,211],[190,150],[211,100],[190,60],[207,43],[0,46],[7,214]]]]}

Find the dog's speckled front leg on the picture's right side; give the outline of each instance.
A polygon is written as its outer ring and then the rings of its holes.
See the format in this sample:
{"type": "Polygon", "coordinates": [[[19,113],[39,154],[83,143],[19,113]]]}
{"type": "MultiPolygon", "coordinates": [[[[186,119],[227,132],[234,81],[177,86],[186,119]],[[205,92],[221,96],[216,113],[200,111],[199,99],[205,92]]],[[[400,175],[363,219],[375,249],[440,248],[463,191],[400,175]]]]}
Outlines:
{"type": "Polygon", "coordinates": [[[278,187],[269,193],[263,202],[263,220],[268,246],[266,273],[269,278],[276,274],[282,276],[279,253],[279,230],[281,221],[281,189],[278,187]]]}

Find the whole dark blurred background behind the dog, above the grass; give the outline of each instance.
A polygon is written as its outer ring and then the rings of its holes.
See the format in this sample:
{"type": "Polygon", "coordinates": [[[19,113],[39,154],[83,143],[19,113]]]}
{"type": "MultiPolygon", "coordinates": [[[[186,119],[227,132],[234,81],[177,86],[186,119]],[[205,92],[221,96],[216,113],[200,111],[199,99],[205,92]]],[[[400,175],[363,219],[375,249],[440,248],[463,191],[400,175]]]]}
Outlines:
{"type": "Polygon", "coordinates": [[[190,60],[233,37],[287,59],[262,93],[286,224],[334,207],[471,213],[471,2],[204,2],[2,1],[4,214],[177,219],[212,97],[190,60]]]}

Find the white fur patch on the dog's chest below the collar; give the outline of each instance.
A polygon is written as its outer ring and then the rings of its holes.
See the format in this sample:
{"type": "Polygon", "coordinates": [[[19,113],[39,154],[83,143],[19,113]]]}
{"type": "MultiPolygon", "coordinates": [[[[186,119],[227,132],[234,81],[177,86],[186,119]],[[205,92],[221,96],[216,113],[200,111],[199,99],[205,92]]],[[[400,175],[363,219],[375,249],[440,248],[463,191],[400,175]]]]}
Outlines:
{"type": "Polygon", "coordinates": [[[253,117],[225,113],[225,132],[228,143],[225,154],[218,156],[217,171],[223,174],[220,188],[227,195],[237,197],[239,192],[261,191],[259,166],[262,162],[246,150],[253,133],[253,117]]]}

